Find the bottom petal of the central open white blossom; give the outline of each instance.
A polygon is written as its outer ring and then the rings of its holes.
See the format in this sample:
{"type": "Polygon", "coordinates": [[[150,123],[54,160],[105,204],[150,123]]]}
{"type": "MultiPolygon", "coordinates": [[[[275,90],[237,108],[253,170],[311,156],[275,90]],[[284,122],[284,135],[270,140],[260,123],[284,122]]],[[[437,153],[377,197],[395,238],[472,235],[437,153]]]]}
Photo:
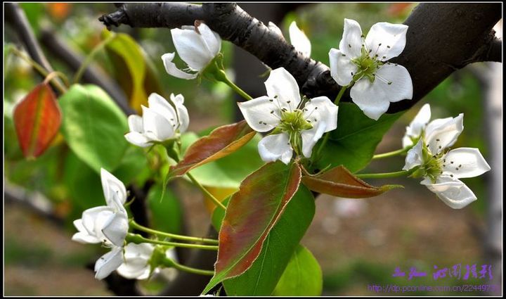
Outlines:
{"type": "Polygon", "coordinates": [[[288,134],[274,134],[265,136],[258,144],[259,154],[265,162],[281,160],[288,164],[292,160],[292,146],[288,134]]]}

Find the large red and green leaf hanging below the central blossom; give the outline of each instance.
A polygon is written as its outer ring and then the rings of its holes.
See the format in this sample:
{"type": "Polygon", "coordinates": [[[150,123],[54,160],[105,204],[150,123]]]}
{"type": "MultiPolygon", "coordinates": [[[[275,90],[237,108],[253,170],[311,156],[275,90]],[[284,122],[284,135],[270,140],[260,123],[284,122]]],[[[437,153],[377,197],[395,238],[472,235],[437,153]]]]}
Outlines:
{"type": "Polygon", "coordinates": [[[261,252],[269,231],[299,189],[297,163],[268,163],[249,175],[228,203],[219,231],[214,276],[203,293],[225,279],[244,273],[261,252]]]}

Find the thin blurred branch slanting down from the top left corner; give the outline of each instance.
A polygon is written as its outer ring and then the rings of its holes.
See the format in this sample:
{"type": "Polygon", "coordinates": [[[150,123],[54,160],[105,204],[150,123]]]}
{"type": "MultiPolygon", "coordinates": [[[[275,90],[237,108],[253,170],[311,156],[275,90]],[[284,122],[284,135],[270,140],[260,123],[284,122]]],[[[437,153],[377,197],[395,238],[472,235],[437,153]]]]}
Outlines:
{"type": "MultiPolygon", "coordinates": [[[[53,72],[53,68],[49,64],[46,56],[44,56],[44,53],[42,52],[41,47],[39,46],[39,43],[35,38],[35,34],[33,33],[32,28],[30,27],[30,23],[28,23],[28,19],[25,15],[25,12],[22,11],[22,9],[18,4],[15,3],[6,3],[4,8],[7,23],[11,25],[16,34],[18,34],[18,38],[25,46],[27,53],[30,55],[33,61],[39,63],[39,65],[44,67],[48,72],[53,72]]],[[[42,77],[42,79],[45,78],[42,77]]],[[[60,79],[56,79],[56,81],[58,82],[57,84],[63,86],[60,79]]],[[[53,82],[53,80],[51,80],[51,85],[54,86],[54,84],[55,83],[53,82]]],[[[58,88],[55,88],[54,91],[57,94],[59,94],[60,92],[58,88]]]]}

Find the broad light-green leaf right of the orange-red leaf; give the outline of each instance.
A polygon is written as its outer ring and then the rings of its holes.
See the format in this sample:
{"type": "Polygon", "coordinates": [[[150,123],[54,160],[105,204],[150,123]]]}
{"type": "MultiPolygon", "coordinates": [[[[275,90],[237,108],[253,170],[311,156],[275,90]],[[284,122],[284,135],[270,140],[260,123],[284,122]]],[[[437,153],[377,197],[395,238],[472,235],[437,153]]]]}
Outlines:
{"type": "Polygon", "coordinates": [[[112,172],[128,146],[126,117],[112,99],[95,85],[74,84],[60,98],[62,134],[72,151],[97,173],[112,172]]]}

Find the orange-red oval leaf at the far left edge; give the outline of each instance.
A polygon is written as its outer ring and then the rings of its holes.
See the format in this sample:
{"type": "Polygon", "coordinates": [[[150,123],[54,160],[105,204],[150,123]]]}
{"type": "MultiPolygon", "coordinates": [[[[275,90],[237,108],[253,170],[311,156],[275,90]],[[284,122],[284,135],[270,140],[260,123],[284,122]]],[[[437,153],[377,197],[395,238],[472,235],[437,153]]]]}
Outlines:
{"type": "Polygon", "coordinates": [[[37,158],[58,134],[61,112],[48,84],[37,85],[14,108],[14,125],[23,155],[37,158]]]}

